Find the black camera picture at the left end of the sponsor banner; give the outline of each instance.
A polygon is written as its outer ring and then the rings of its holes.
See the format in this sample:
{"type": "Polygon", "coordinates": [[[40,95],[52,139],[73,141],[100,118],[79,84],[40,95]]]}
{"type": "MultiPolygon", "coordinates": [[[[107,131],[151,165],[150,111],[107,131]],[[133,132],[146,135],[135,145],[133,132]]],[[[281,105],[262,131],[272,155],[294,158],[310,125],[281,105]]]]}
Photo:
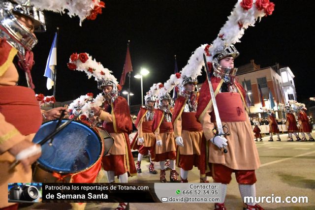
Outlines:
{"type": "Polygon", "coordinates": [[[10,200],[34,201],[39,197],[39,191],[36,187],[25,184],[22,187],[13,186],[9,191],[10,200]]]}

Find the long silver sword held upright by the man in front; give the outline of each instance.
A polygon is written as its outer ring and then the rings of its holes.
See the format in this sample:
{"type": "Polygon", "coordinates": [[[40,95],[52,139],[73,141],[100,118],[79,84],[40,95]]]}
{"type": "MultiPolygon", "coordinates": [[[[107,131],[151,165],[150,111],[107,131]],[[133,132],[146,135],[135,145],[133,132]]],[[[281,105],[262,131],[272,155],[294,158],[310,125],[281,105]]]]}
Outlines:
{"type": "MultiPolygon", "coordinates": [[[[221,118],[220,118],[220,115],[219,115],[219,110],[218,110],[218,106],[217,106],[217,101],[216,101],[216,96],[215,96],[215,93],[213,91],[213,87],[212,87],[212,83],[211,83],[211,75],[210,75],[210,71],[209,71],[209,67],[207,65],[207,60],[206,60],[206,56],[205,54],[203,54],[203,60],[205,62],[205,67],[206,67],[206,73],[207,73],[207,79],[208,79],[208,84],[209,84],[209,90],[210,90],[210,94],[211,94],[211,99],[212,99],[212,105],[213,105],[213,110],[215,112],[215,116],[216,116],[216,122],[217,122],[217,128],[218,128],[218,131],[217,132],[214,132],[214,134],[216,136],[227,136],[227,135],[230,135],[227,132],[224,132],[223,131],[223,127],[225,127],[227,129],[227,127],[224,125],[222,126],[222,122],[221,122],[221,118]]],[[[223,152],[224,153],[227,153],[227,150],[226,150],[226,147],[223,145],[223,152]]]]}

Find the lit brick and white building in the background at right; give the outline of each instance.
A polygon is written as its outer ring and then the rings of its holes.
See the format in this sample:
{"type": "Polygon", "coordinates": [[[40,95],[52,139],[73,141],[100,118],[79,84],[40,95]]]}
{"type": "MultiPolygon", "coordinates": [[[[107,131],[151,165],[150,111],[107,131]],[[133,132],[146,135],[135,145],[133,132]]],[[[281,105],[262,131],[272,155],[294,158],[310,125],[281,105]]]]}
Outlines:
{"type": "Polygon", "coordinates": [[[289,99],[296,99],[293,78],[294,75],[290,68],[280,67],[279,64],[260,68],[260,65],[255,64],[254,60],[251,60],[250,63],[239,66],[237,79],[244,88],[246,85],[248,90],[250,116],[267,117],[266,113],[261,109],[260,86],[265,107],[273,109],[276,112],[276,118],[284,118],[284,113],[279,111],[278,104],[285,104],[289,99]],[[274,107],[271,107],[270,96],[272,96],[272,100],[274,101],[274,107]]]}

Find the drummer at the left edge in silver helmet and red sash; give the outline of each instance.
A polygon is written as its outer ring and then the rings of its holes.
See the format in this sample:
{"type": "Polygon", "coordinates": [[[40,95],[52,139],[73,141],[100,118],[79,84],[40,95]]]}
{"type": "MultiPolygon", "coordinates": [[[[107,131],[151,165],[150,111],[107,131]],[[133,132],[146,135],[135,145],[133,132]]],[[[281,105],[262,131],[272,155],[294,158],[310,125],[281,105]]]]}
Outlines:
{"type": "MultiPolygon", "coordinates": [[[[1,12],[5,10],[3,9],[5,8],[4,5],[9,4],[11,2],[2,0],[0,2],[1,12]]],[[[34,14],[22,15],[18,10],[15,10],[16,5],[12,4],[10,9],[5,10],[6,12],[13,12],[16,16],[16,18],[10,16],[8,19],[16,24],[23,25],[20,28],[21,31],[19,31],[25,34],[22,39],[33,40],[32,44],[35,45],[37,39],[34,30],[44,29],[45,23],[36,20],[34,14]]],[[[30,7],[20,6],[25,7],[23,11],[29,11],[30,7]]],[[[10,39],[7,31],[15,30],[9,29],[11,25],[2,25],[6,22],[3,19],[6,18],[5,15],[0,18],[0,192],[7,191],[8,182],[31,181],[31,164],[41,153],[40,147],[32,143],[32,138],[43,119],[53,120],[59,118],[61,112],[65,110],[63,107],[58,107],[41,113],[35,98],[35,92],[32,90],[34,85],[32,84],[30,71],[33,64],[33,54],[32,51],[27,50],[23,55],[21,53],[24,48],[32,49],[33,45],[26,46],[30,44],[26,40],[18,42],[10,39]],[[22,43],[26,44],[23,45],[22,43]],[[23,57],[26,59],[24,63],[19,61],[17,54],[20,59],[23,60],[23,57]],[[27,88],[28,86],[30,88],[27,88]],[[28,155],[21,156],[26,151],[28,151],[28,155]],[[9,165],[16,156],[20,157],[21,164],[17,165],[13,171],[9,171],[9,165]]],[[[3,193],[0,196],[0,209],[6,207],[14,210],[18,208],[18,205],[8,203],[8,197],[3,193]]]]}

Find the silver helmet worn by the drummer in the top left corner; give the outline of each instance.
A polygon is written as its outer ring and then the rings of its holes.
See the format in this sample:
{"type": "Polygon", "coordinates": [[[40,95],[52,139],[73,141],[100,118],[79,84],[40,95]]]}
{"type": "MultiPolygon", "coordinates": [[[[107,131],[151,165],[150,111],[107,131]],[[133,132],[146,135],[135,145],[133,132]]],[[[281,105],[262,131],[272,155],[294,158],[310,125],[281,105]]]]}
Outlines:
{"type": "Polygon", "coordinates": [[[7,42],[24,56],[25,50],[31,51],[37,44],[37,38],[32,31],[22,25],[16,16],[30,18],[35,32],[46,30],[44,14],[30,5],[29,0],[1,0],[0,1],[0,38],[7,42]]]}

